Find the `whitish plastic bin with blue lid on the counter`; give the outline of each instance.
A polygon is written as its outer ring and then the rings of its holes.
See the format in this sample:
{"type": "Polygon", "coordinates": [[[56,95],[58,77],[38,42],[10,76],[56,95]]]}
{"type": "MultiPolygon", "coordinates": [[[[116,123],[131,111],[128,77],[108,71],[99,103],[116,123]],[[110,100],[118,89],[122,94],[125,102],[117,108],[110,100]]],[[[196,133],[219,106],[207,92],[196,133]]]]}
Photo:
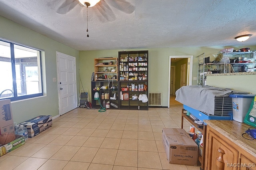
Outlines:
{"type": "Polygon", "coordinates": [[[232,107],[233,107],[233,119],[240,123],[244,123],[244,117],[246,116],[250,104],[255,95],[252,94],[232,94],[232,107]]]}

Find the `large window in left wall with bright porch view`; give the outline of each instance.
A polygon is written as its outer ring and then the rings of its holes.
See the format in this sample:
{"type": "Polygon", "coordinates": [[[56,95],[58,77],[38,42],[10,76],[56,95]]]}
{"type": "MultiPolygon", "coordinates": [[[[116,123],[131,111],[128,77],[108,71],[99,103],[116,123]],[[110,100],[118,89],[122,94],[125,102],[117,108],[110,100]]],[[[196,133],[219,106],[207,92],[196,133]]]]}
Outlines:
{"type": "Polygon", "coordinates": [[[0,99],[42,96],[42,50],[0,40],[0,99]]]}

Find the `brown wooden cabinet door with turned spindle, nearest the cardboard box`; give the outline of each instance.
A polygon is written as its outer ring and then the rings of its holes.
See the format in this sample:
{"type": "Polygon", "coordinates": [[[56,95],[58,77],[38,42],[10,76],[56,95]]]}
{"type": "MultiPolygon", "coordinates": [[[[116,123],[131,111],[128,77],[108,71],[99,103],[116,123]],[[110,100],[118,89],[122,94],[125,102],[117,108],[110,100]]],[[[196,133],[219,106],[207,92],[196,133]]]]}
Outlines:
{"type": "Polygon", "coordinates": [[[209,131],[207,169],[236,170],[237,167],[229,165],[238,163],[238,151],[221,138],[221,136],[217,136],[214,132],[209,131]]]}

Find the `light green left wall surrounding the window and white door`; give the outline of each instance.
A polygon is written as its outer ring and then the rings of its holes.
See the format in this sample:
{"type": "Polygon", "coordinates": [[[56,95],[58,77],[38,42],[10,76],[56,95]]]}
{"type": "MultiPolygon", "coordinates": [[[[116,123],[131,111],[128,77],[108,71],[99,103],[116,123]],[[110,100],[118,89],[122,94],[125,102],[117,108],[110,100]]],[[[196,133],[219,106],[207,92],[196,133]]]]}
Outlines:
{"type": "MultiPolygon", "coordinates": [[[[58,115],[58,84],[57,81],[52,81],[53,77],[57,77],[56,51],[76,57],[76,65],[79,62],[79,51],[47,38],[42,34],[38,34],[2,16],[0,16],[0,37],[44,49],[42,56],[44,96],[12,102],[14,122],[22,123],[38,115],[52,115],[53,117],[58,115]]],[[[77,83],[77,89],[79,91],[79,83],[77,83]]]]}

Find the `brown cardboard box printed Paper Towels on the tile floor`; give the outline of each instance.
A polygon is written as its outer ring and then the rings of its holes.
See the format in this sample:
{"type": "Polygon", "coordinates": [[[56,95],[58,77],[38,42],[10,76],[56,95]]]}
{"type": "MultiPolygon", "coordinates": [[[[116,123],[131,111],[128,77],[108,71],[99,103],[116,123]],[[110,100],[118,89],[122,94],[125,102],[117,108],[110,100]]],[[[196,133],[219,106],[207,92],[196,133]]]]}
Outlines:
{"type": "Polygon", "coordinates": [[[163,128],[163,144],[171,164],[197,166],[198,145],[180,128],[163,128]]]}

